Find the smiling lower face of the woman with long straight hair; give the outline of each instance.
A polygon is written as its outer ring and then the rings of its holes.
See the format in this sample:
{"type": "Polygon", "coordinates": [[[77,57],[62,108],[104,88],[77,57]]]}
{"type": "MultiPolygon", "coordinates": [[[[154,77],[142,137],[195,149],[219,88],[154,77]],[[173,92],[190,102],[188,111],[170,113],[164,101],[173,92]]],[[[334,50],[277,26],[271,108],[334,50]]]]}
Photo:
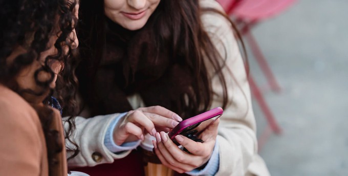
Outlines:
{"type": "MultiPolygon", "coordinates": [[[[145,26],[161,0],[104,0],[105,15],[128,30],[145,26]]],[[[176,0],[168,0],[176,1],[176,0]]]]}

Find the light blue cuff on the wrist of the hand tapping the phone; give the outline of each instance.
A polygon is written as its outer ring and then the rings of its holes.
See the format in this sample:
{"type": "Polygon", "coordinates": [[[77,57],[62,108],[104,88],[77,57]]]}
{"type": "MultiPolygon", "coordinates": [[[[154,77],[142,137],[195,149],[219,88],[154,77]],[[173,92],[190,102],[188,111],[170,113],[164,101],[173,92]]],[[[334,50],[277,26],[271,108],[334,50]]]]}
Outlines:
{"type": "Polygon", "coordinates": [[[106,148],[108,150],[110,150],[111,152],[120,152],[120,151],[125,151],[125,150],[132,150],[138,147],[138,145],[140,144],[141,140],[138,141],[134,141],[134,142],[126,142],[123,143],[122,145],[117,145],[115,144],[114,141],[114,136],[113,136],[113,132],[114,129],[116,127],[116,125],[118,124],[118,122],[120,121],[120,119],[123,119],[123,117],[126,115],[127,113],[122,113],[120,114],[118,117],[116,117],[108,126],[107,130],[106,130],[106,134],[104,137],[104,145],[106,146],[106,148]]]}

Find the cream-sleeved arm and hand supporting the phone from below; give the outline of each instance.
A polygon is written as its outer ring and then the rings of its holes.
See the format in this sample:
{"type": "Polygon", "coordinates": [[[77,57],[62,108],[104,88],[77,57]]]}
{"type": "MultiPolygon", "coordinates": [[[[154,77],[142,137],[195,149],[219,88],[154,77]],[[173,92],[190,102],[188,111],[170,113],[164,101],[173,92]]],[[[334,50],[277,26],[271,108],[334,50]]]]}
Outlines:
{"type": "MultiPolygon", "coordinates": [[[[223,12],[223,9],[215,1],[202,0],[200,3],[204,8],[214,8],[223,12]]],[[[209,131],[206,130],[207,132],[201,135],[202,139],[206,138],[204,143],[192,142],[183,136],[181,141],[177,139],[192,155],[179,151],[178,147],[173,146],[170,140],[166,140],[167,137],[162,132],[161,135],[157,135],[158,149],[155,151],[164,165],[178,172],[196,168],[191,172],[186,172],[191,175],[196,175],[197,171],[202,169],[202,164],[207,161],[207,166],[199,171],[199,174],[245,175],[249,170],[254,170],[251,167],[257,167],[258,170],[265,169],[262,174],[267,175],[265,165],[253,163],[259,159],[255,135],[256,125],[245,66],[232,27],[224,16],[214,12],[202,14],[202,22],[213,45],[224,59],[225,67],[222,69],[222,74],[226,81],[229,104],[224,109],[224,115],[220,118],[219,128],[217,128],[217,124],[212,125],[209,127],[211,128],[209,131]],[[215,147],[219,149],[217,154],[212,152],[214,145],[219,145],[215,147]],[[216,162],[210,162],[210,159],[215,158],[216,155],[219,156],[217,159],[219,165],[211,167],[216,162]],[[200,167],[197,168],[198,166],[200,167]]],[[[221,106],[222,83],[215,75],[210,62],[206,61],[205,64],[212,83],[213,101],[211,107],[221,106]]]]}

